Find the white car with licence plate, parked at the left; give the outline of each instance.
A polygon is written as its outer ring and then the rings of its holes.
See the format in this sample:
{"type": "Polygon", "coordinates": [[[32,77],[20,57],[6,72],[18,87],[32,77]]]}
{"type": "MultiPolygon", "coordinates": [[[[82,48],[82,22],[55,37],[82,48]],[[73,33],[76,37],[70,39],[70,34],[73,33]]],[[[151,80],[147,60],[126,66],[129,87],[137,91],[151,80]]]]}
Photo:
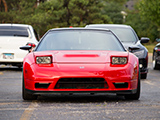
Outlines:
{"type": "Polygon", "coordinates": [[[20,46],[38,44],[35,31],[31,25],[0,24],[0,64],[21,67],[28,53],[20,46]]]}

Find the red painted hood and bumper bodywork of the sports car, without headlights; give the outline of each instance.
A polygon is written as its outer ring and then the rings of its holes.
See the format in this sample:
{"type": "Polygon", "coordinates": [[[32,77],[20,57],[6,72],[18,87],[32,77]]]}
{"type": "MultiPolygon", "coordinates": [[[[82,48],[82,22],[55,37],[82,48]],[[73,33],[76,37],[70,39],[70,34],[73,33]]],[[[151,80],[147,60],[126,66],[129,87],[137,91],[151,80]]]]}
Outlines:
{"type": "Polygon", "coordinates": [[[23,64],[25,88],[32,91],[120,91],[137,88],[138,58],[128,52],[112,51],[43,51],[29,53],[23,64]],[[52,64],[38,65],[36,56],[52,56],[52,64]],[[112,56],[128,58],[125,65],[112,65],[112,56]],[[104,78],[108,88],[55,89],[60,78],[104,78]],[[114,83],[128,83],[116,88],[114,83]],[[35,88],[35,83],[50,83],[47,88],[35,88]]]}

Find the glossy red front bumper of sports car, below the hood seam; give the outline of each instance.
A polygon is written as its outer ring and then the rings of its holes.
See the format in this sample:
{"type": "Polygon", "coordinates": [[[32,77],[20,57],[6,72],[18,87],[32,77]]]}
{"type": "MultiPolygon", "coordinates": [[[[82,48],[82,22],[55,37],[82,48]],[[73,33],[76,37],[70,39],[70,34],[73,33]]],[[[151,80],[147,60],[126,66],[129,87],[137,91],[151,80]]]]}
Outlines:
{"type": "MultiPolygon", "coordinates": [[[[113,67],[110,64],[54,64],[53,66],[32,65],[31,68],[24,67],[25,88],[33,94],[73,92],[132,94],[137,89],[139,69],[133,68],[131,64],[121,67],[113,67]],[[79,66],[84,66],[84,69],[79,69],[79,66]],[[94,88],[81,85],[77,85],[77,88],[75,86],[74,88],[56,88],[61,78],[102,78],[107,85],[104,84],[102,88],[99,86],[96,88],[94,85],[94,88]]],[[[74,81],[71,84],[74,84],[74,81]]]]}

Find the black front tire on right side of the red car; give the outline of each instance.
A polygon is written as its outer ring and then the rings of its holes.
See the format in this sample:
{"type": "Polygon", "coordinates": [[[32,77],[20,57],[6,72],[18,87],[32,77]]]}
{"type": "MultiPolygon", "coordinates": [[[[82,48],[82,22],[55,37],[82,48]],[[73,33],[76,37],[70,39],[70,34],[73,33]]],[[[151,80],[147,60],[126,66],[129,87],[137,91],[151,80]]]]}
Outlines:
{"type": "Polygon", "coordinates": [[[141,82],[140,82],[140,77],[138,77],[137,92],[134,94],[125,95],[125,99],[126,100],[138,100],[140,97],[140,91],[141,91],[141,82]]]}

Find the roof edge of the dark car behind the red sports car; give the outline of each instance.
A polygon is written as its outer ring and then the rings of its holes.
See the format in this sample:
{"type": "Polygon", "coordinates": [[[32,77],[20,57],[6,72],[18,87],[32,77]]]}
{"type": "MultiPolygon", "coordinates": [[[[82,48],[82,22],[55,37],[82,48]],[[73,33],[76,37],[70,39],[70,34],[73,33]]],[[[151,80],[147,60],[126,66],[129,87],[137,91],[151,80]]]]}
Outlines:
{"type": "Polygon", "coordinates": [[[99,26],[99,27],[122,27],[122,28],[131,28],[131,26],[130,25],[124,25],[124,24],[89,24],[89,25],[87,25],[86,26],[86,28],[88,27],[88,26],[99,26]]]}

